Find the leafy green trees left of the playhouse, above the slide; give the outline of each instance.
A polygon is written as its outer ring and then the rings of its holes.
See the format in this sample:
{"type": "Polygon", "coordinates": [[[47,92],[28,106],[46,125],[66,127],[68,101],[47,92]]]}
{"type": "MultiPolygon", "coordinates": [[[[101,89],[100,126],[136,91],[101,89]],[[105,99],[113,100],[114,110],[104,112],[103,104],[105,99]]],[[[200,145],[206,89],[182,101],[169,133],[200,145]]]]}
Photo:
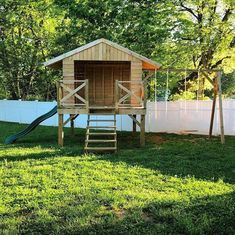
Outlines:
{"type": "Polygon", "coordinates": [[[51,0],[4,0],[0,4],[0,69],[9,98],[26,99],[34,94],[35,82],[46,75],[41,65],[56,25],[51,4],[51,0]]]}

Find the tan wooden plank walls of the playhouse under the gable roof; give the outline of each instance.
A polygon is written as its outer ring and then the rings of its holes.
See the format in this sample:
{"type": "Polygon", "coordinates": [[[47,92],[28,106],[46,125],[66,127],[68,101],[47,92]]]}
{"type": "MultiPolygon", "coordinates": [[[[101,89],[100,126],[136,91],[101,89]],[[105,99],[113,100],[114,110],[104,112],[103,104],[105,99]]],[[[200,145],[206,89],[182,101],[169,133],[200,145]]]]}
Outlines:
{"type": "MultiPolygon", "coordinates": [[[[99,43],[65,58],[63,60],[63,79],[89,79],[90,105],[112,106],[115,97],[115,80],[142,80],[142,65],[142,61],[135,56],[108,44],[99,43]],[[104,66],[101,66],[102,61],[104,66]],[[125,62],[129,62],[128,69],[124,68],[125,66],[123,67],[125,62]]],[[[127,89],[133,90],[137,96],[143,96],[139,84],[127,83],[124,85],[127,89]]],[[[84,95],[83,91],[81,91],[80,95],[84,95]]],[[[122,95],[125,95],[123,90],[121,90],[122,95]]],[[[77,102],[77,100],[75,101],[74,98],[71,98],[69,102],[72,104],[77,102]]],[[[132,96],[130,103],[135,105],[138,101],[132,96]]]]}

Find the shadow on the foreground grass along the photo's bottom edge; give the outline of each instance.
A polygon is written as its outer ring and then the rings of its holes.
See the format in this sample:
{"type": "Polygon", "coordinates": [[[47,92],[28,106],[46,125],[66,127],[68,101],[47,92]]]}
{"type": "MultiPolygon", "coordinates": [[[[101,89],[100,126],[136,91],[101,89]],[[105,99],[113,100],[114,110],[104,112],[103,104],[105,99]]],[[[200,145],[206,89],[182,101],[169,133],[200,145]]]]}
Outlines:
{"type": "MultiPolygon", "coordinates": [[[[94,198],[97,201],[97,199],[94,198]]],[[[234,234],[235,194],[190,202],[158,202],[129,210],[101,204],[76,209],[78,204],[55,207],[49,218],[30,216],[20,226],[27,234],[234,234]],[[84,224],[81,223],[83,221],[84,224]]],[[[32,213],[33,215],[33,213],[32,213]]]]}

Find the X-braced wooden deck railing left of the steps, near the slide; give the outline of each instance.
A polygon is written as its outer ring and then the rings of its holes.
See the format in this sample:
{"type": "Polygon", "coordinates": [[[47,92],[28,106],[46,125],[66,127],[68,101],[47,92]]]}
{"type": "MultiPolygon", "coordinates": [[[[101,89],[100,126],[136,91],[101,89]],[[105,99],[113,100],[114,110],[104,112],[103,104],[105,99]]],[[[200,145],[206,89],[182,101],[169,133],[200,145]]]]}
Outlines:
{"type": "Polygon", "coordinates": [[[58,107],[89,108],[88,79],[86,80],[62,80],[57,85],[58,107]]]}

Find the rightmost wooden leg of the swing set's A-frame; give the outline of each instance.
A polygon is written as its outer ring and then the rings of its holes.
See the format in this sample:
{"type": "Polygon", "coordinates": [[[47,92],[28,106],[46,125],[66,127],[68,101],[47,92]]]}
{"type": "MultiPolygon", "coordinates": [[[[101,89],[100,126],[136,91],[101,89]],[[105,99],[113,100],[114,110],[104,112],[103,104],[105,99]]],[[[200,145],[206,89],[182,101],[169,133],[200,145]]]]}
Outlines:
{"type": "Polygon", "coordinates": [[[223,102],[222,102],[222,88],[221,88],[221,72],[217,72],[216,78],[218,84],[218,96],[219,96],[219,117],[220,117],[220,138],[221,143],[225,143],[224,139],[224,118],[223,118],[223,102]]]}

